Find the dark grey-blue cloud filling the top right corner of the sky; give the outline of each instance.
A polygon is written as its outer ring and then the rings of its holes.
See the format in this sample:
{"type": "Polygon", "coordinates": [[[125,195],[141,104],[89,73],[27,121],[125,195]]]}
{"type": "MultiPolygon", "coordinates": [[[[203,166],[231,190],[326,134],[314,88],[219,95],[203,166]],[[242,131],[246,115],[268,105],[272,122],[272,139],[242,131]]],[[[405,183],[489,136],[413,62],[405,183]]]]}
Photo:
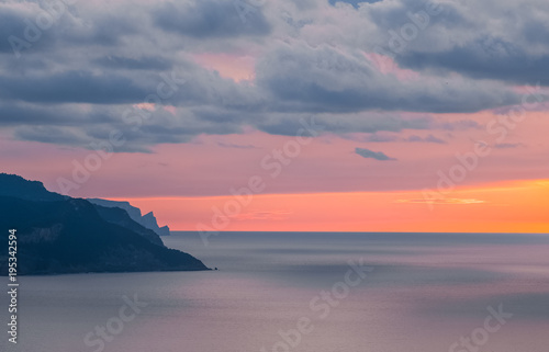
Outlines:
{"type": "Polygon", "coordinates": [[[445,7],[444,21],[434,19],[395,56],[399,65],[513,83],[549,83],[547,2],[489,0],[445,7]]]}

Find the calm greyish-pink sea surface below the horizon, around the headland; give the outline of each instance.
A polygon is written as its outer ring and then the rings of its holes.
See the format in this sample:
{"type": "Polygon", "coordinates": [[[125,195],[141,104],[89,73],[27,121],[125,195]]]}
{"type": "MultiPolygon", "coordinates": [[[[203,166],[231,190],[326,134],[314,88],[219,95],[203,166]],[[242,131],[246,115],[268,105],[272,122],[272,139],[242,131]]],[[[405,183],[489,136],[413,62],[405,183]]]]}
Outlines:
{"type": "MultiPolygon", "coordinates": [[[[0,351],[549,351],[547,235],[164,240],[220,270],[20,277],[19,343],[2,332],[0,351]]],[[[7,294],[0,304],[8,330],[7,294]]]]}

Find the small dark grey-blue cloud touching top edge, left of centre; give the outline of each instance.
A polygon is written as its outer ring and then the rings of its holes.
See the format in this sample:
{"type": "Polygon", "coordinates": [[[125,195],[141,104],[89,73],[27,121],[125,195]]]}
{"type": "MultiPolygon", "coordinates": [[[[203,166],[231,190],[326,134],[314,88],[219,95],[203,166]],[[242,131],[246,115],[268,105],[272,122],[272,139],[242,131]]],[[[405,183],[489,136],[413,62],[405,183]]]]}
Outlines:
{"type": "Polygon", "coordinates": [[[166,2],[152,16],[158,27],[195,38],[267,35],[267,19],[259,9],[253,9],[253,13],[243,15],[236,1],[166,2]]]}

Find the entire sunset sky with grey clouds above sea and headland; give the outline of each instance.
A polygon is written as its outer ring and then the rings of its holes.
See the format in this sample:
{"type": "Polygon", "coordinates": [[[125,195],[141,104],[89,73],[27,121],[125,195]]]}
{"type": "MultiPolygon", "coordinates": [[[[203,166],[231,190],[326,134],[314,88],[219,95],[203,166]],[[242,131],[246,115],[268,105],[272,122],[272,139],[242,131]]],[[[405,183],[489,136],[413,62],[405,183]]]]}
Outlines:
{"type": "Polygon", "coordinates": [[[175,230],[549,232],[546,0],[0,3],[1,171],[175,230]]]}

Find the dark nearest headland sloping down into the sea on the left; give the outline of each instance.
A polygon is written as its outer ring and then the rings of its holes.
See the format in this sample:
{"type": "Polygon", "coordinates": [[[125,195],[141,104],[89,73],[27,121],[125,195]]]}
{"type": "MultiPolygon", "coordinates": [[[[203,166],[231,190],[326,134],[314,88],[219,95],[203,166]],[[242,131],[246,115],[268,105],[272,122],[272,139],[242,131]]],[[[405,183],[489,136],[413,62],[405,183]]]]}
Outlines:
{"type": "MultiPolygon", "coordinates": [[[[0,174],[0,229],[16,229],[21,275],[209,270],[166,248],[122,208],[52,193],[18,175],[0,174]]],[[[7,273],[8,253],[0,251],[0,274],[7,273]]]]}

